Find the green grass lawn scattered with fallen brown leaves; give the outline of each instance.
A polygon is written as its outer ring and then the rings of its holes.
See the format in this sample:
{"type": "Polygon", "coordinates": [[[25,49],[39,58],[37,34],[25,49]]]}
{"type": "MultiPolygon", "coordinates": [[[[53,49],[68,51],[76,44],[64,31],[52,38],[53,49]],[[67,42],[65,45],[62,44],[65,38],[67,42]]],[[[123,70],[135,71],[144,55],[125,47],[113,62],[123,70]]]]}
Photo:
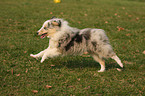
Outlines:
{"type": "Polygon", "coordinates": [[[144,50],[144,0],[0,1],[0,96],[144,96],[144,50]],[[47,48],[48,39],[36,32],[52,16],[73,27],[106,30],[126,69],[118,72],[111,59],[106,72],[98,73],[100,65],[91,57],[58,57],[42,64],[31,58],[47,48]]]}

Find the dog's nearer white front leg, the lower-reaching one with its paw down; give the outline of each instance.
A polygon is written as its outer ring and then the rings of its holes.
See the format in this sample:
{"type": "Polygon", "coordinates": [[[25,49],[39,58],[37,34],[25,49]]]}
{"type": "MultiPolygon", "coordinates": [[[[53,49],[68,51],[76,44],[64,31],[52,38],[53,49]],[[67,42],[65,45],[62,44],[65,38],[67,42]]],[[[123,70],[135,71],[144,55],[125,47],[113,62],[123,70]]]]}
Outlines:
{"type": "Polygon", "coordinates": [[[56,57],[56,56],[59,56],[61,53],[58,52],[57,48],[49,48],[49,50],[46,50],[44,55],[42,56],[42,59],[41,59],[41,63],[47,59],[47,58],[53,58],[53,57],[56,57]]]}

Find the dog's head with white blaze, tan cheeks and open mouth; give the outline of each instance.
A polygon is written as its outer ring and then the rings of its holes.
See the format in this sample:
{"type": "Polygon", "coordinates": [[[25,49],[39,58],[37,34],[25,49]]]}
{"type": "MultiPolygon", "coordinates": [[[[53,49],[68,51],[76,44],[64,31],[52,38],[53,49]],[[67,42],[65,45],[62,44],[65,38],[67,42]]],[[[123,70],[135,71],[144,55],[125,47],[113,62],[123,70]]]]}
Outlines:
{"type": "Polygon", "coordinates": [[[37,34],[41,35],[41,38],[52,37],[57,31],[60,30],[62,25],[62,19],[52,17],[50,20],[44,22],[37,34]]]}

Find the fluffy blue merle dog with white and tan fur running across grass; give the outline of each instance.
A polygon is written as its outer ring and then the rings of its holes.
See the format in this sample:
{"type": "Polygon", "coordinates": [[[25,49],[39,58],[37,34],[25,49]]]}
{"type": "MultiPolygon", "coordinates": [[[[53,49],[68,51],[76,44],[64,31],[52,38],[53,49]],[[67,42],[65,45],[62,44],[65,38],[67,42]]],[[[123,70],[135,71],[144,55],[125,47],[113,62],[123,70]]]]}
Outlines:
{"type": "Polygon", "coordinates": [[[88,52],[95,61],[99,62],[101,69],[105,71],[105,58],[114,59],[121,68],[123,64],[114,53],[109,39],[102,29],[85,28],[78,29],[68,25],[64,19],[52,17],[44,22],[37,32],[41,38],[49,38],[49,46],[40,53],[33,55],[33,58],[41,58],[41,63],[49,58],[66,55],[82,55],[88,52]]]}

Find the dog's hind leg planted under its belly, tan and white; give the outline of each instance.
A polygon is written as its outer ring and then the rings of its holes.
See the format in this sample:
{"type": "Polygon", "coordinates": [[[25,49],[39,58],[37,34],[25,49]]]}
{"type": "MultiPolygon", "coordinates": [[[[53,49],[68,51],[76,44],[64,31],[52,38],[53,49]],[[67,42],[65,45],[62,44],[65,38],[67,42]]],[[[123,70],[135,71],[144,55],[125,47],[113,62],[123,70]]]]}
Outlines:
{"type": "Polygon", "coordinates": [[[97,55],[92,55],[95,61],[99,62],[101,65],[101,69],[98,72],[104,72],[105,71],[105,60],[99,58],[97,55]]]}

